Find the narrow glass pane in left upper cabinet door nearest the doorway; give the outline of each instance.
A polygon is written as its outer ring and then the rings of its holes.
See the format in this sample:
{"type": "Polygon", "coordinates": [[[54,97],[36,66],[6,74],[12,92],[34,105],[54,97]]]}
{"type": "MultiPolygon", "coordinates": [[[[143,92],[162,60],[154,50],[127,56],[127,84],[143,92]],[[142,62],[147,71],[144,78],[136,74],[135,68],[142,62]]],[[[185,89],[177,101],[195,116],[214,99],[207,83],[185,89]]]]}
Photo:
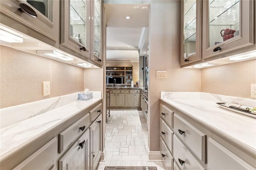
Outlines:
{"type": "Polygon", "coordinates": [[[94,0],[94,55],[100,57],[100,0],[94,0]]]}

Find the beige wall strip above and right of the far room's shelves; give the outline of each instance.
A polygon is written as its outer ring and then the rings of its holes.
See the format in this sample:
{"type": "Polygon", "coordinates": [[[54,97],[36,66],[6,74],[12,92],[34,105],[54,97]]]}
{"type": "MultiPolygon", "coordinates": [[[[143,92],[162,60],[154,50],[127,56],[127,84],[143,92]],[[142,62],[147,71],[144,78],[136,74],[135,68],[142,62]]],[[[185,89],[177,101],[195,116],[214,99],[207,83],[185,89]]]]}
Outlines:
{"type": "Polygon", "coordinates": [[[139,79],[139,63],[131,61],[106,61],[106,67],[108,66],[133,66],[133,81],[134,83],[139,79]]]}

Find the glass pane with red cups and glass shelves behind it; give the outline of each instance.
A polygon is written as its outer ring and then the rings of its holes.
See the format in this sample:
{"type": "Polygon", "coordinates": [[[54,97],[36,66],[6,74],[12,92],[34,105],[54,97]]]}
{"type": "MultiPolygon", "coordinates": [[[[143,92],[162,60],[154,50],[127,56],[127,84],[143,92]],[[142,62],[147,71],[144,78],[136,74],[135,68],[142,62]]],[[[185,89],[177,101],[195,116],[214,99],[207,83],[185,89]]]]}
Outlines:
{"type": "Polygon", "coordinates": [[[209,0],[209,47],[239,36],[239,0],[209,0]]]}

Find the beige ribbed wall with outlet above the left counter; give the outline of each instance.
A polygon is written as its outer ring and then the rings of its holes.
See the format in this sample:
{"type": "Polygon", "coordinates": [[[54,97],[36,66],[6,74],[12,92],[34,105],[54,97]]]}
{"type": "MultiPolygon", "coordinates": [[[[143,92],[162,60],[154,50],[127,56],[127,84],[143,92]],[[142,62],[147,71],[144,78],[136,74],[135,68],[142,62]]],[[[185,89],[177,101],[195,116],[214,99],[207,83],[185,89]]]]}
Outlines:
{"type": "Polygon", "coordinates": [[[84,69],[0,45],[0,87],[0,108],[39,101],[83,91],[84,69]]]}

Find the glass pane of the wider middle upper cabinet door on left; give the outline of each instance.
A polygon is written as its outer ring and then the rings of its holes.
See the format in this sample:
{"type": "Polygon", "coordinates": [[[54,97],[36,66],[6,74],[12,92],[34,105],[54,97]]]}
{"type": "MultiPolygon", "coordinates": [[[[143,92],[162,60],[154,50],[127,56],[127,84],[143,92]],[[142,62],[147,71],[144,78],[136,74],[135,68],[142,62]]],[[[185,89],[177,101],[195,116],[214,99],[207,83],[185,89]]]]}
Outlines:
{"type": "Polygon", "coordinates": [[[86,32],[89,4],[87,0],[70,0],[70,36],[87,47],[86,32]]]}

